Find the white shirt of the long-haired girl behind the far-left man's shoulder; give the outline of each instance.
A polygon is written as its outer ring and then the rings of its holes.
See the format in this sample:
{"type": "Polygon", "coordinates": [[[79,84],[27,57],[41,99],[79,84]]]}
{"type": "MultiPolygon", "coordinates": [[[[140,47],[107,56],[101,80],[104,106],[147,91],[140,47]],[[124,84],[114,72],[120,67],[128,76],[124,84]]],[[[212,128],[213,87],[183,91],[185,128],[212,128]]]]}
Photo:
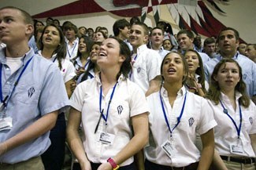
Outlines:
{"type": "MultiPolygon", "coordinates": [[[[42,56],[42,51],[40,50],[38,52],[38,54],[39,54],[39,56],[42,56]]],[[[54,54],[54,56],[52,56],[50,58],[50,61],[53,61],[59,67],[58,60],[55,58],[56,58],[56,54],[54,54]]],[[[70,81],[72,78],[74,78],[76,76],[76,69],[71,61],[69,61],[67,59],[62,59],[61,66],[62,66],[62,68],[60,71],[61,71],[61,75],[62,75],[65,83],[70,81]]]]}

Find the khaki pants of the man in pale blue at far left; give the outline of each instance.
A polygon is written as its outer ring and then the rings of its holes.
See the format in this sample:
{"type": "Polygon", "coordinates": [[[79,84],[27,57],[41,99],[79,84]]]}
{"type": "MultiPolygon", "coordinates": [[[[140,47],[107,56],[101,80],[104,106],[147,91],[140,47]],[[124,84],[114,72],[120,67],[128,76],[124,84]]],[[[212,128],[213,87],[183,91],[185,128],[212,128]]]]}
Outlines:
{"type": "Polygon", "coordinates": [[[0,170],[44,170],[44,166],[41,157],[32,157],[13,165],[0,163],[0,170]]]}

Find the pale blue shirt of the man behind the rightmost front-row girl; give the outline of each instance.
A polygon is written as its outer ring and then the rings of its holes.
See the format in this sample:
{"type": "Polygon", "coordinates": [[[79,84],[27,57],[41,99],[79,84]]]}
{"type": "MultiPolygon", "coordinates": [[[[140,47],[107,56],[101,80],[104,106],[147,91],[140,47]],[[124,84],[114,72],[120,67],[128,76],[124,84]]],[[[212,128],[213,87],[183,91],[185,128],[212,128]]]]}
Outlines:
{"type": "MultiPolygon", "coordinates": [[[[222,60],[221,54],[218,54],[215,58],[204,64],[204,70],[206,74],[206,81],[210,81],[210,76],[213,73],[213,69],[219,61],[222,60]]],[[[243,81],[247,84],[247,92],[250,97],[256,95],[256,64],[248,59],[246,56],[236,52],[236,55],[232,58],[239,63],[239,66],[242,68],[243,72],[243,81]]]]}

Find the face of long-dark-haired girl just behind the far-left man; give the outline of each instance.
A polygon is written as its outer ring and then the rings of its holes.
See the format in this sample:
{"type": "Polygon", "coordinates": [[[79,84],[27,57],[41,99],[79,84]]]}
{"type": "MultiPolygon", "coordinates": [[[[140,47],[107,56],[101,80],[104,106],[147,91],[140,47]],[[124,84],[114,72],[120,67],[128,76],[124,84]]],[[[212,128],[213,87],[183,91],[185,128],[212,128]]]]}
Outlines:
{"type": "Polygon", "coordinates": [[[61,42],[61,37],[58,29],[53,26],[46,27],[43,32],[43,46],[56,49],[61,42]]]}

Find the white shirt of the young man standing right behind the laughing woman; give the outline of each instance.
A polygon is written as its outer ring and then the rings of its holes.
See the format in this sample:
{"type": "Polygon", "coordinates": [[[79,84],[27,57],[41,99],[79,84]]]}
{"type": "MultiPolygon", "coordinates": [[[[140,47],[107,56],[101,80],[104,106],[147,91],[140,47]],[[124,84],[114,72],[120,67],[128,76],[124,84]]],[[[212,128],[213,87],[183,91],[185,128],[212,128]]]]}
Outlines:
{"type": "Polygon", "coordinates": [[[158,52],[148,49],[147,45],[141,45],[137,53],[132,55],[132,71],[129,78],[146,93],[150,81],[161,74],[160,67],[161,56],[158,52]]]}

